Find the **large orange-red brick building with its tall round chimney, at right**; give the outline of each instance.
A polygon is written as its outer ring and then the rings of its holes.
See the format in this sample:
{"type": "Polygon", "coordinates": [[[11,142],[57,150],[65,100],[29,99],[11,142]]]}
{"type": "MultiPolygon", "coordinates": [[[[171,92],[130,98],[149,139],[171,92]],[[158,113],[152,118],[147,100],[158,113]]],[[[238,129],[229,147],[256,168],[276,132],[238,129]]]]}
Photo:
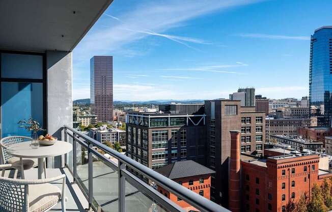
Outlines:
{"type": "MultiPolygon", "coordinates": [[[[284,155],[283,152],[270,151],[269,155],[274,156],[265,159],[251,158],[240,162],[238,158],[244,158],[244,155],[233,150],[238,146],[236,144],[239,143],[239,138],[233,135],[231,138],[232,144],[235,145],[231,147],[229,195],[230,199],[238,201],[232,190],[236,190],[236,184],[241,184],[241,190],[238,192],[240,211],[289,211],[288,208],[294,206],[302,194],[311,195],[310,191],[315,183],[320,185],[325,178],[332,176],[332,172],[319,170],[320,154],[295,152],[284,155]],[[237,182],[238,176],[235,174],[239,173],[238,166],[232,163],[240,163],[241,183],[237,182]]],[[[239,211],[238,208],[231,207],[230,202],[229,209],[239,211]]]]}

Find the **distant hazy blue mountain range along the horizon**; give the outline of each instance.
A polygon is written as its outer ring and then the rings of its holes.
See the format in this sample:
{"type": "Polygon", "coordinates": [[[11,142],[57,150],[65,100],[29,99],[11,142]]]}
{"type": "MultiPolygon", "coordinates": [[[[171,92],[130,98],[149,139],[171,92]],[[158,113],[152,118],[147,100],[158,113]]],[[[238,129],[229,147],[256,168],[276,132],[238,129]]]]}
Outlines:
{"type": "MultiPolygon", "coordinates": [[[[115,100],[113,102],[114,105],[119,105],[119,104],[127,104],[127,105],[132,105],[132,104],[170,104],[171,102],[176,102],[176,103],[204,103],[204,100],[202,99],[186,99],[186,100],[174,100],[174,99],[158,99],[158,100],[150,100],[150,101],[130,101],[130,100],[121,100],[117,101],[115,100]]],[[[78,105],[90,105],[90,99],[77,99],[73,101],[73,104],[78,104],[78,105]]]]}

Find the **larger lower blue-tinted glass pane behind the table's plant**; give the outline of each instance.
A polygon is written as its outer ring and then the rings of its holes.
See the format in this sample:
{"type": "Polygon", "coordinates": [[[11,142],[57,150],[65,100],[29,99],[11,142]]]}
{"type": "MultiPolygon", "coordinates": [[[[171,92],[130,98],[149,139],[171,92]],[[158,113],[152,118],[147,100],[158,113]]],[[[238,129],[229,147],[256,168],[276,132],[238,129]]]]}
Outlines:
{"type": "Polygon", "coordinates": [[[2,138],[30,136],[31,132],[20,128],[17,122],[30,117],[43,126],[42,83],[1,83],[2,138]]]}

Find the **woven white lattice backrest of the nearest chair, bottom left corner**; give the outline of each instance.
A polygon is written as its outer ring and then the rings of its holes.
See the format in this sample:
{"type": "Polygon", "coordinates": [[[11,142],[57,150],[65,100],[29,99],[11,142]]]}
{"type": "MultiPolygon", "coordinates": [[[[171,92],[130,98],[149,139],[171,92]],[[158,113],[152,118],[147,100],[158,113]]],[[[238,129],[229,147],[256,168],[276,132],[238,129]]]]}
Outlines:
{"type": "Polygon", "coordinates": [[[28,211],[28,186],[17,179],[0,177],[0,211],[28,211]]]}

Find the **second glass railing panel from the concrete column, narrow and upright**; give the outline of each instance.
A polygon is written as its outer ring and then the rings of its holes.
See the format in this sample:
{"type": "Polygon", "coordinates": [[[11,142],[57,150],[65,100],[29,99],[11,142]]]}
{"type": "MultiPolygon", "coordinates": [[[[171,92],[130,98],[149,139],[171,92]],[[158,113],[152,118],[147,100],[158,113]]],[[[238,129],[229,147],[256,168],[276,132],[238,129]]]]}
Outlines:
{"type": "Polygon", "coordinates": [[[88,149],[76,142],[76,180],[84,192],[89,194],[88,149]]]}

